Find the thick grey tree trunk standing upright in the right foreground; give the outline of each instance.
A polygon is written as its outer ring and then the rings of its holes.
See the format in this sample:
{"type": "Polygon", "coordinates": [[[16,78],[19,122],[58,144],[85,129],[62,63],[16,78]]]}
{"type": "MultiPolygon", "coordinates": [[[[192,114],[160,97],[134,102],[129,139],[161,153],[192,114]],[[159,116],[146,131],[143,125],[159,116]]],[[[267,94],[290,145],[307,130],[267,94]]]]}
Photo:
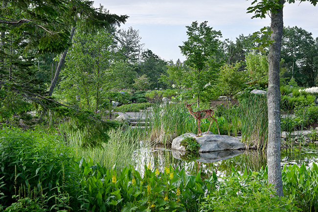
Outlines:
{"type": "MultiPolygon", "coordinates": [[[[283,5],[284,0],[279,0],[283,5]]],[[[267,144],[267,164],[268,182],[273,184],[278,196],[283,196],[282,176],[280,166],[280,91],[279,91],[279,63],[280,48],[283,34],[283,8],[271,11],[271,40],[269,53],[268,72],[268,144],[267,144]]]]}

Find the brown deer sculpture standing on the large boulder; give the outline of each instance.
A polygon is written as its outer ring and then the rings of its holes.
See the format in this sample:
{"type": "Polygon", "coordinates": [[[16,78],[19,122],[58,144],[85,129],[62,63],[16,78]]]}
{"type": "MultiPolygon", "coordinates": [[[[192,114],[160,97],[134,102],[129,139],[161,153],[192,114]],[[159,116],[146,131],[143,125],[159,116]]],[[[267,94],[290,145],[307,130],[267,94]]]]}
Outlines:
{"type": "MultiPolygon", "coordinates": [[[[194,103],[192,103],[192,104],[194,104],[194,103]]],[[[202,135],[202,131],[201,131],[201,129],[200,129],[200,122],[201,122],[201,119],[205,119],[205,118],[207,118],[207,120],[210,121],[210,126],[209,126],[209,128],[208,128],[206,134],[209,132],[210,127],[211,127],[213,121],[216,122],[216,126],[218,127],[218,132],[219,132],[219,134],[220,134],[218,121],[216,120],[216,118],[213,117],[214,111],[213,111],[212,109],[205,109],[205,110],[198,110],[198,111],[196,111],[196,112],[193,112],[193,110],[192,110],[192,108],[191,108],[192,104],[186,104],[185,107],[189,109],[190,114],[198,121],[198,128],[199,128],[199,129],[198,129],[198,135],[197,135],[197,137],[199,137],[199,134],[200,134],[200,133],[201,133],[201,135],[202,135]]]]}

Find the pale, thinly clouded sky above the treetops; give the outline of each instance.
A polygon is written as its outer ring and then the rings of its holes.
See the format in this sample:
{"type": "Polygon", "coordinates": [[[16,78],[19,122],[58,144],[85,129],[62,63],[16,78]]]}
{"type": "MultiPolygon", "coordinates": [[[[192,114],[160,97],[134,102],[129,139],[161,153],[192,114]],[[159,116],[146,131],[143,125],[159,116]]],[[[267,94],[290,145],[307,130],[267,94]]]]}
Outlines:
{"type": "MultiPolygon", "coordinates": [[[[264,26],[266,19],[254,18],[247,13],[253,0],[94,0],[94,7],[103,5],[110,13],[128,15],[120,28],[139,30],[144,49],[150,49],[165,61],[185,60],[179,46],[187,40],[186,27],[193,21],[207,24],[221,31],[220,40],[235,42],[243,34],[248,36],[264,26]]],[[[318,37],[318,5],[296,1],[286,3],[283,9],[284,26],[297,26],[318,37]]]]}

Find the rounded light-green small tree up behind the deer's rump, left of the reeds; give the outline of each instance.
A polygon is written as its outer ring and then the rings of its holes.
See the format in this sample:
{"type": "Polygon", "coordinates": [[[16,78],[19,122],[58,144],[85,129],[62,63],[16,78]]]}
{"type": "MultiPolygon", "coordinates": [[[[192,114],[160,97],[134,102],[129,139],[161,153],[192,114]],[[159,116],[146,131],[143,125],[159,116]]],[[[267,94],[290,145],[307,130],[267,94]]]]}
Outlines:
{"type": "Polygon", "coordinates": [[[248,73],[238,69],[242,63],[236,62],[235,64],[225,64],[221,67],[217,89],[220,90],[222,95],[232,98],[235,94],[242,91],[248,82],[248,73]]]}

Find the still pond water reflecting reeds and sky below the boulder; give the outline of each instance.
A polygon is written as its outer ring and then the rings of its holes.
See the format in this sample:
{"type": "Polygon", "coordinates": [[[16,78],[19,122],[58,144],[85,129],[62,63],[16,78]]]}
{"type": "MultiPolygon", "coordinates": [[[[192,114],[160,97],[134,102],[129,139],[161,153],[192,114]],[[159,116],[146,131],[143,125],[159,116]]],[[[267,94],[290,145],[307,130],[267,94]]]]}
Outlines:
{"type": "MultiPolygon", "coordinates": [[[[135,151],[136,160],[135,169],[140,173],[144,172],[144,167],[151,166],[153,170],[164,171],[164,167],[171,165],[177,172],[184,169],[186,173],[197,175],[201,170],[201,176],[208,178],[213,171],[217,176],[228,176],[232,168],[243,172],[245,169],[258,171],[261,167],[266,167],[266,151],[257,150],[236,150],[225,153],[225,151],[214,152],[211,161],[206,159],[196,159],[195,161],[186,161],[179,157],[178,152],[165,148],[140,148],[135,151]],[[225,156],[221,160],[221,156],[225,156]],[[216,156],[216,157],[215,157],[216,156]],[[150,163],[150,164],[149,164],[150,163]]],[[[316,146],[293,147],[281,150],[281,166],[301,165],[305,163],[310,167],[312,163],[318,164],[318,149],[316,146]]]]}

